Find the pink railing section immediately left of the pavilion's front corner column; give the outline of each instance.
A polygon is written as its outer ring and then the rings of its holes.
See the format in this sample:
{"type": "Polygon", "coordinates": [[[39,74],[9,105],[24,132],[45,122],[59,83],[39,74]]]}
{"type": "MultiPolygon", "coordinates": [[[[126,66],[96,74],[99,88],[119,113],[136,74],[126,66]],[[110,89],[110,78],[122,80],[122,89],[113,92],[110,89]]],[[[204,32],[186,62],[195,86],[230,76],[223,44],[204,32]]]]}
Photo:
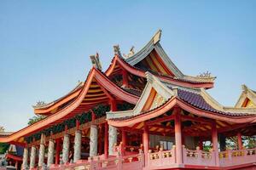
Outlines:
{"type": "Polygon", "coordinates": [[[160,148],[157,152],[148,150],[147,165],[149,169],[164,168],[175,164],[175,146],[172,150],[163,150],[160,148]]]}

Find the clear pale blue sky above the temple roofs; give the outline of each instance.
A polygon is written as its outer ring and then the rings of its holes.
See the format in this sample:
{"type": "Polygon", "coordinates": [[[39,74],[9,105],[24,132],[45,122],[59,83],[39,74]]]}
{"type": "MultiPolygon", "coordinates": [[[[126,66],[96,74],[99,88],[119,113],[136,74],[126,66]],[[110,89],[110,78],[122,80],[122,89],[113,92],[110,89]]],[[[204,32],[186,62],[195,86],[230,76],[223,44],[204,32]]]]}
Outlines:
{"type": "Polygon", "coordinates": [[[241,84],[256,89],[256,1],[0,1],[0,126],[26,127],[38,100],[67,94],[98,52],[138,50],[158,29],[184,74],[217,76],[209,93],[235,105],[241,84]]]}

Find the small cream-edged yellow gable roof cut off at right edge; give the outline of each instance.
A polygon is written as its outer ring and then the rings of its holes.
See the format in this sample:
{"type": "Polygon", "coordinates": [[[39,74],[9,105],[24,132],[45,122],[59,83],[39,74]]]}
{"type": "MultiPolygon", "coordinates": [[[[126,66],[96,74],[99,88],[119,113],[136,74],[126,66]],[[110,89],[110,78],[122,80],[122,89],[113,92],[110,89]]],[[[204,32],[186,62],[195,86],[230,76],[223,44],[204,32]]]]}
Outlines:
{"type": "Polygon", "coordinates": [[[247,88],[246,85],[241,86],[242,92],[241,95],[236,102],[235,107],[254,107],[256,108],[256,92],[250,88],[247,88]]]}

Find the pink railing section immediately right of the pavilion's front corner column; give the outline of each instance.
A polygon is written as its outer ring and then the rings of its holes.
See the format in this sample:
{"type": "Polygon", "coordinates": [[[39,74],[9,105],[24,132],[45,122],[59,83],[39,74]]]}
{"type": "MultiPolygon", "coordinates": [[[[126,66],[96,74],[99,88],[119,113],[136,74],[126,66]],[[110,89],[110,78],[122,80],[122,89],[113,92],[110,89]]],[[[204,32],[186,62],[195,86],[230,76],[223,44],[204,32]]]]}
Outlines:
{"type": "Polygon", "coordinates": [[[183,145],[183,164],[214,167],[214,151],[203,151],[199,147],[196,150],[189,150],[183,145]]]}

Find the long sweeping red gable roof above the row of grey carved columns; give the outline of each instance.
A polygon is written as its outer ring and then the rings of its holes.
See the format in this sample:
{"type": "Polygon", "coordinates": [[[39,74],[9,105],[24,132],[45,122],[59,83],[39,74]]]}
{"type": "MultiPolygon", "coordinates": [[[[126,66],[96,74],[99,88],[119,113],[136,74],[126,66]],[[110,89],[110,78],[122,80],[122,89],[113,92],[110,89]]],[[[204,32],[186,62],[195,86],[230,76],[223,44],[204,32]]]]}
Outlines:
{"type": "Polygon", "coordinates": [[[122,99],[131,104],[136,104],[138,100],[137,95],[130,94],[124,89],[119,88],[116,84],[111,82],[104,73],[96,68],[92,68],[84,82],[82,90],[79,92],[78,97],[69,105],[61,108],[61,110],[55,112],[55,114],[45,117],[39,122],[12,133],[6,138],[0,137],[0,142],[17,141],[22,143],[24,142],[23,137],[28,134],[42,130],[50,125],[63,122],[67,117],[74,116],[82,111],[89,111],[93,106],[108,104],[109,100],[111,100],[108,98],[117,100],[122,99]],[[99,91],[101,96],[97,97],[99,95],[97,94],[99,91]],[[90,97],[91,95],[93,95],[93,98],[90,97]]]}

